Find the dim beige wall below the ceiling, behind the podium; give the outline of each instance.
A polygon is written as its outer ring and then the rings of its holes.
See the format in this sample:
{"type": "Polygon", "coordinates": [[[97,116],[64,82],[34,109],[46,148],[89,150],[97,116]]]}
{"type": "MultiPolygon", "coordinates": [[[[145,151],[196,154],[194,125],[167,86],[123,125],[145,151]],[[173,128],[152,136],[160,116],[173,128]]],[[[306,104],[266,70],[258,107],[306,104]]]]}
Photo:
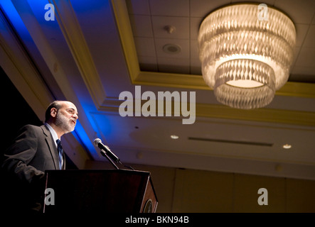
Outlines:
{"type": "MultiPolygon", "coordinates": [[[[151,172],[159,205],[156,212],[315,212],[315,181],[171,167],[132,165],[151,172]],[[268,205],[259,205],[258,189],[268,205]],[[265,194],[263,194],[265,195],[265,194]]],[[[108,162],[86,169],[112,169],[108,162]]]]}

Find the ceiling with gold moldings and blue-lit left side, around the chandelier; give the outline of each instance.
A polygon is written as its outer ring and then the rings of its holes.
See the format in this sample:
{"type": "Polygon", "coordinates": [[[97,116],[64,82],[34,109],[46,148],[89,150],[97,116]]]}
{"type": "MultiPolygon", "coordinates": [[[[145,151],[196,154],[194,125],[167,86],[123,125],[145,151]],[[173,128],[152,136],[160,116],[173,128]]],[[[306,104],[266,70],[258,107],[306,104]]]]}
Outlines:
{"type": "Polygon", "coordinates": [[[44,18],[48,1],[0,2],[1,67],[42,120],[53,99],[76,104],[80,122],[64,146],[79,167],[107,162],[92,144],[101,138],[124,163],[315,179],[315,1],[265,1],[294,21],[296,57],[274,101],[250,111],[219,104],[201,77],[198,24],[230,1],[51,1],[55,21],[44,18]],[[167,43],[181,52],[166,54],[167,43]],[[134,96],[136,85],[196,92],[196,122],[120,116],[119,94],[134,96]]]}

